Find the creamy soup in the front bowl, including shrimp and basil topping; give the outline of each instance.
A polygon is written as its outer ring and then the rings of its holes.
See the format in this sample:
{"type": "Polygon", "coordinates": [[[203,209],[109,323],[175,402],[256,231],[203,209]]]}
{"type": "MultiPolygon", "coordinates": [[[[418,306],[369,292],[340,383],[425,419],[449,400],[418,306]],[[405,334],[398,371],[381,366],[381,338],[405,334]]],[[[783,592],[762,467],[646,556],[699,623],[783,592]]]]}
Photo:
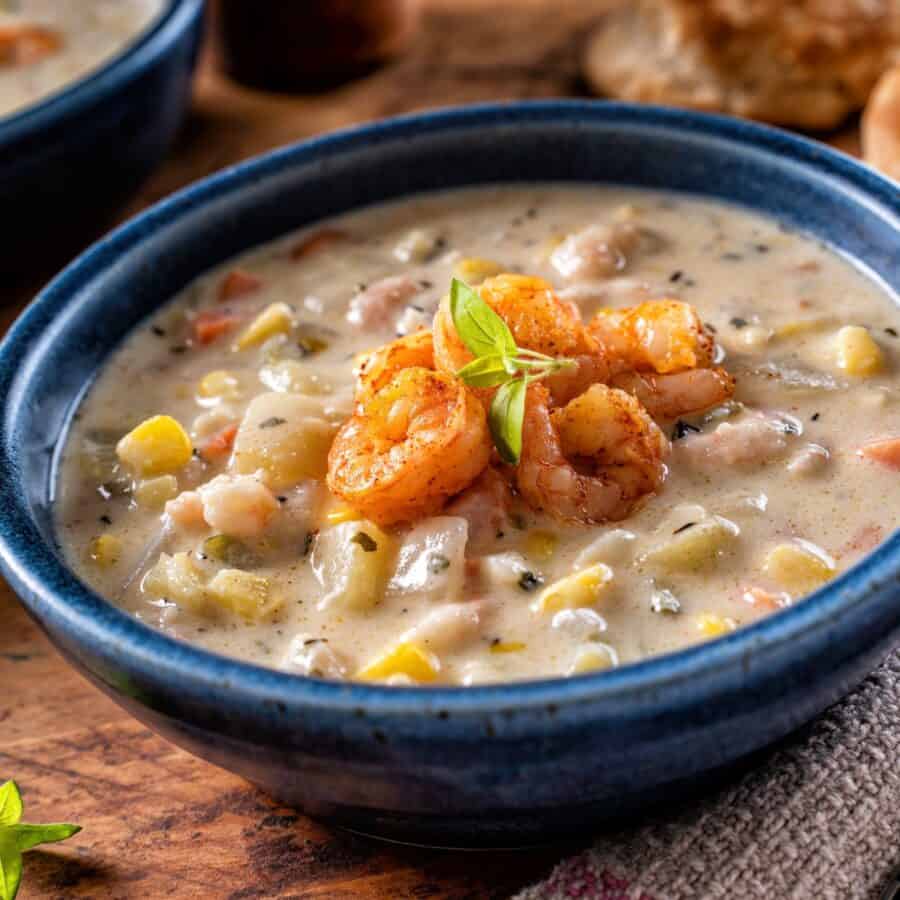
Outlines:
{"type": "Polygon", "coordinates": [[[367,209],[125,342],[72,428],[60,535],[141,621],[290,672],[615,667],[800,602],[892,531],[898,333],[885,288],[725,205],[367,209]]]}

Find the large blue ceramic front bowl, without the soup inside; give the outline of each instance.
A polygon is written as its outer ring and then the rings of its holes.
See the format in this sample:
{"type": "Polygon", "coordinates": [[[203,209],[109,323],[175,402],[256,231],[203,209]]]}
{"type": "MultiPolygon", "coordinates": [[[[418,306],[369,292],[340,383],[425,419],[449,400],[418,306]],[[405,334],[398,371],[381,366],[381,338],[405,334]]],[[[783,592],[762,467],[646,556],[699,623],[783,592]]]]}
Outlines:
{"type": "Polygon", "coordinates": [[[0,346],[0,560],[28,610],[151,728],[330,822],[450,846],[584,828],[786,735],[853,687],[900,632],[894,535],[794,608],[616,671],[478,688],[333,684],[164,637],[61,561],[54,474],[72,413],[116,344],[188,281],[364,204],[548,179],[743,204],[900,285],[897,188],[847,157],[696,113],[523,103],[370,125],[227,170],[96,245],[0,346]]]}

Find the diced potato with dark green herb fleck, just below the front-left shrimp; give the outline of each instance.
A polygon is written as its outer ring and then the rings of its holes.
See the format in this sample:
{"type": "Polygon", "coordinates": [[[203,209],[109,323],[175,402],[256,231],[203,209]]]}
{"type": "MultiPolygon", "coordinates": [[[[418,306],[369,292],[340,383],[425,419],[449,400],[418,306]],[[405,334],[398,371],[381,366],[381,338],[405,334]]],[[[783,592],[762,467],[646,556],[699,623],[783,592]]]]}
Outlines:
{"type": "Polygon", "coordinates": [[[320,608],[362,611],[377,606],[394,561],[394,544],[365,519],[322,531],[312,555],[313,572],[324,589],[320,608]]]}

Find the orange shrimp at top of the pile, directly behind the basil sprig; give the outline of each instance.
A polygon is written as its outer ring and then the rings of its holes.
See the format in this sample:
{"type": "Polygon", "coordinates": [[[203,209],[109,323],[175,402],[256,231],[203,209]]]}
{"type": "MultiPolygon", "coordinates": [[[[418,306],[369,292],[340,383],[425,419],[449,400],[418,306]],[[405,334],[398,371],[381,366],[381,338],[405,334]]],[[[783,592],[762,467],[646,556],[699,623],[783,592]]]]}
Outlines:
{"type": "MultiPolygon", "coordinates": [[[[608,377],[603,354],[585,331],[577,307],[560,300],[542,278],[497,275],[483,282],[478,293],[506,322],[519,347],[576,361],[573,369],[547,379],[555,404],[568,402],[608,377]]],[[[472,361],[472,354],[453,325],[449,296],[441,300],[434,318],[434,361],[440,371],[451,375],[472,361]]],[[[493,395],[490,389],[476,393],[482,399],[493,395]]]]}

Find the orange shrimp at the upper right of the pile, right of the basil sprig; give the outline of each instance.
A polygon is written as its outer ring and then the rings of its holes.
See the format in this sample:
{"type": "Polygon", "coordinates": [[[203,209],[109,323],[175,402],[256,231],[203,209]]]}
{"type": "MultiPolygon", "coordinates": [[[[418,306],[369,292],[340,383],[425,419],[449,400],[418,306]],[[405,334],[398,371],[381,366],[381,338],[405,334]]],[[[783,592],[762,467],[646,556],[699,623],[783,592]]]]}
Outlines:
{"type": "Polygon", "coordinates": [[[601,309],[588,331],[618,371],[664,375],[712,365],[715,342],[694,307],[680,300],[601,309]]]}

